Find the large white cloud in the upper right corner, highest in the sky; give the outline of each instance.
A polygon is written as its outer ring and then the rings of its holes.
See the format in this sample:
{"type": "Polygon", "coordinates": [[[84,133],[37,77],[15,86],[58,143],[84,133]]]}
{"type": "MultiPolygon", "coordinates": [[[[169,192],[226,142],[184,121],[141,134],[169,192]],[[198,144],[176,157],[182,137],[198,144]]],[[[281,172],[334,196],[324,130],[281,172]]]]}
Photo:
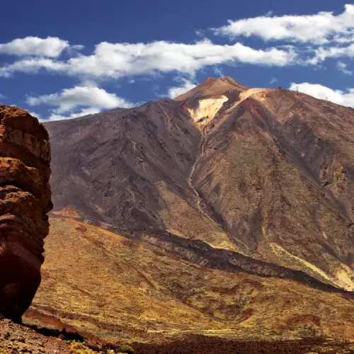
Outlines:
{"type": "Polygon", "coordinates": [[[321,11],[314,15],[259,16],[213,28],[215,34],[229,38],[256,36],[262,40],[287,40],[290,42],[354,42],[354,5],[347,4],[343,13],[321,11]]]}

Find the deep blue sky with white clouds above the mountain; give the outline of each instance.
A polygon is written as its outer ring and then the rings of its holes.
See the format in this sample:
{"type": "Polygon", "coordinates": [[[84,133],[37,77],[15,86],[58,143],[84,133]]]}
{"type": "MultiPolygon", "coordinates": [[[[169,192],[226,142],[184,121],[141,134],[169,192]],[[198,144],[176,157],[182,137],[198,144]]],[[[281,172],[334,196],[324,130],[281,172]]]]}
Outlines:
{"type": "Polygon", "coordinates": [[[354,107],[354,4],[1,2],[0,103],[42,121],[174,98],[208,77],[354,107]]]}

